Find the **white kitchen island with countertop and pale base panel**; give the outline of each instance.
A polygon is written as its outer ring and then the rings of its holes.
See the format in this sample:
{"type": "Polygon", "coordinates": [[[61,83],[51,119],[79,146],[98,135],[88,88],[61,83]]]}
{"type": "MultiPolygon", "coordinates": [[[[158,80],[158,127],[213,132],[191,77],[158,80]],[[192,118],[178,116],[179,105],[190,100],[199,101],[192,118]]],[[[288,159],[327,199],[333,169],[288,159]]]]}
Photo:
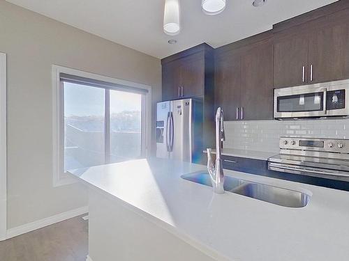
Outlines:
{"type": "Polygon", "coordinates": [[[70,171],[89,187],[88,260],[349,259],[347,191],[225,171],[311,195],[282,207],[181,178],[195,171],[206,166],[155,158],[70,171]]]}

